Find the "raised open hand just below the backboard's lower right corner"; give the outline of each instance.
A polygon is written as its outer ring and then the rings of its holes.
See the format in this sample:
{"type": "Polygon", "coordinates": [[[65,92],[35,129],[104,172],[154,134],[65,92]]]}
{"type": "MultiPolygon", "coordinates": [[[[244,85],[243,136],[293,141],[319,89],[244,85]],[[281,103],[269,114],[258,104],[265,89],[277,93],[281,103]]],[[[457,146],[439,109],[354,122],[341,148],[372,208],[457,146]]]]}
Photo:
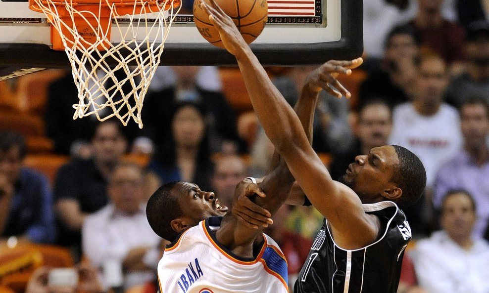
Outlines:
{"type": "Polygon", "coordinates": [[[305,86],[313,92],[319,92],[324,89],[338,98],[343,95],[349,98],[351,97],[350,92],[337,80],[337,77],[340,74],[350,75],[351,70],[362,63],[362,58],[345,61],[330,60],[309,73],[305,86]]]}

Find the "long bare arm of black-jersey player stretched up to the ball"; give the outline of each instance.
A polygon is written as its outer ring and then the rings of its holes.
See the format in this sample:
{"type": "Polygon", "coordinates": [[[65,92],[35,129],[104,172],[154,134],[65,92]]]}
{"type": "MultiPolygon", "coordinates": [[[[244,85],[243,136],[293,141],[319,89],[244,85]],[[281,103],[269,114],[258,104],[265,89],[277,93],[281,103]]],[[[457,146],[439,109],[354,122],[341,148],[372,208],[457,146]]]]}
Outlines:
{"type": "MultiPolygon", "coordinates": [[[[214,1],[211,2],[212,6],[201,1],[201,7],[209,13],[209,20],[219,31],[226,49],[235,55],[251,103],[265,133],[286,161],[308,199],[328,218],[335,241],[339,241],[346,249],[372,243],[378,234],[378,221],[363,211],[360,199],[350,188],[331,178],[309,145],[299,119],[272,84],[231,18],[214,1]]],[[[334,61],[330,65],[355,68],[361,62],[361,59],[334,61]]],[[[350,71],[345,73],[349,74],[350,71]]],[[[321,80],[326,87],[337,87],[339,84],[332,75],[322,76],[321,80]]]]}

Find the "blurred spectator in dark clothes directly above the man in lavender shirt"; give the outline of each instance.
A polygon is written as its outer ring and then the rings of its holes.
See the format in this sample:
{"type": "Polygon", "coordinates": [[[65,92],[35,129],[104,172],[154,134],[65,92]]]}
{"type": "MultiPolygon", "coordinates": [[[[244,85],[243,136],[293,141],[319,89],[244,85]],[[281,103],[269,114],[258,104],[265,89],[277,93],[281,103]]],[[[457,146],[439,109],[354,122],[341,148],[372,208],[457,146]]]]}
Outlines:
{"type": "Polygon", "coordinates": [[[489,102],[489,21],[474,22],[465,43],[466,71],[454,77],[445,93],[445,101],[455,107],[471,95],[489,102]]]}

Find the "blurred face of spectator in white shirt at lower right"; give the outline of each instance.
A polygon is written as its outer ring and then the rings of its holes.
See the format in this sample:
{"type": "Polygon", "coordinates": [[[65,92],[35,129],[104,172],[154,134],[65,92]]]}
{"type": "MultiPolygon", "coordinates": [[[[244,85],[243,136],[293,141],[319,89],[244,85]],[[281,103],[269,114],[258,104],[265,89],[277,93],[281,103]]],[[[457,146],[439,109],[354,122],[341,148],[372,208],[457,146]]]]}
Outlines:
{"type": "Polygon", "coordinates": [[[450,195],[443,202],[441,226],[453,239],[470,237],[476,221],[476,212],[464,193],[450,195]]]}

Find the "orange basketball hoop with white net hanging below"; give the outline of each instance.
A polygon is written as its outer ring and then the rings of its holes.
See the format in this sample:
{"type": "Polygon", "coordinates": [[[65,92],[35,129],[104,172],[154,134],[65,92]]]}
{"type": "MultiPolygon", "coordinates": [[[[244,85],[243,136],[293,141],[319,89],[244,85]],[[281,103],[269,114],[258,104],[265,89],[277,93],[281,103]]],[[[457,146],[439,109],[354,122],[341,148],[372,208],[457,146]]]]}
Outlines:
{"type": "Polygon", "coordinates": [[[142,128],[144,97],[180,0],[29,0],[29,8],[46,15],[52,48],[68,55],[79,99],[73,119],[115,116],[126,126],[132,118],[142,128]]]}

